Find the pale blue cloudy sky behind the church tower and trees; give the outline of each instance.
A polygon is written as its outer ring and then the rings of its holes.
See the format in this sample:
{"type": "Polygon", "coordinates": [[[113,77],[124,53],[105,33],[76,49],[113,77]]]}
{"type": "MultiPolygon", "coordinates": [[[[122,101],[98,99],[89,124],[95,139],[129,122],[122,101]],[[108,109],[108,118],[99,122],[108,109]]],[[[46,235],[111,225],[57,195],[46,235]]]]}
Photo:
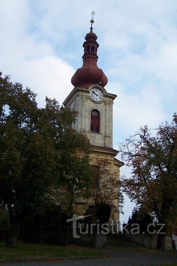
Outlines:
{"type": "MultiPolygon", "coordinates": [[[[84,36],[96,11],[98,66],[108,77],[114,148],[144,125],[172,120],[177,98],[175,0],[0,0],[0,71],[60,104],[82,65],[84,36]]],[[[119,157],[118,157],[119,158],[119,157]]],[[[119,158],[120,159],[120,158],[119,158]]],[[[121,175],[129,175],[123,166],[121,175]]],[[[126,198],[124,221],[134,204],[126,198]]]]}

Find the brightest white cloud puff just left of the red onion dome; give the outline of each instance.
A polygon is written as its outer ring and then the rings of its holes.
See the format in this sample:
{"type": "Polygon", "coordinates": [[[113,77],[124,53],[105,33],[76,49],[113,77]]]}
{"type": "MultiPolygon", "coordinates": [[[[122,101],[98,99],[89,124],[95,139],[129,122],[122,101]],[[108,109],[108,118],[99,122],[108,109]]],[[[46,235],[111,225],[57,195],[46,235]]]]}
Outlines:
{"type": "Polygon", "coordinates": [[[56,98],[63,103],[72,86],[73,68],[60,58],[46,56],[24,63],[22,83],[37,93],[37,102],[45,104],[45,97],[56,98]],[[24,80],[24,81],[23,81],[24,80]]]}

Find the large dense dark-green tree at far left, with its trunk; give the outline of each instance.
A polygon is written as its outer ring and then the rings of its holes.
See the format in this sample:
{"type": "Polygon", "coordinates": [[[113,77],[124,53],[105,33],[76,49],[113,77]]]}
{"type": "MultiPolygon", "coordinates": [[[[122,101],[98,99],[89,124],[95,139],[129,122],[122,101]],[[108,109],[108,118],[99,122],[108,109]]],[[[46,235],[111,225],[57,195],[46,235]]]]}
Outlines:
{"type": "MultiPolygon", "coordinates": [[[[0,74],[0,205],[10,215],[9,247],[16,245],[20,223],[29,210],[52,201],[53,192],[64,182],[68,168],[63,154],[78,164],[75,149],[89,153],[89,140],[71,128],[77,112],[49,98],[45,108],[38,108],[35,96],[0,74]]],[[[87,161],[86,167],[90,167],[87,161]]],[[[84,173],[80,169],[78,176],[84,173]]]]}

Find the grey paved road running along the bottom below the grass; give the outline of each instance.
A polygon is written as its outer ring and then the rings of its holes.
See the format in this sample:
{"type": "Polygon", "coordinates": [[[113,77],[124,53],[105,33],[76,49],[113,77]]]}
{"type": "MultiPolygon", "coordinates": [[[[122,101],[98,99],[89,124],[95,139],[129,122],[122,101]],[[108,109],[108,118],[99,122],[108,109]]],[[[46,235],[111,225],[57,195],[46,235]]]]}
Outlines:
{"type": "Polygon", "coordinates": [[[127,250],[119,248],[105,248],[105,253],[109,252],[110,256],[99,259],[80,259],[80,260],[61,260],[57,262],[34,262],[34,263],[11,263],[5,266],[145,266],[145,265],[162,265],[164,263],[176,263],[177,253],[164,253],[160,251],[129,248],[127,250]]]}

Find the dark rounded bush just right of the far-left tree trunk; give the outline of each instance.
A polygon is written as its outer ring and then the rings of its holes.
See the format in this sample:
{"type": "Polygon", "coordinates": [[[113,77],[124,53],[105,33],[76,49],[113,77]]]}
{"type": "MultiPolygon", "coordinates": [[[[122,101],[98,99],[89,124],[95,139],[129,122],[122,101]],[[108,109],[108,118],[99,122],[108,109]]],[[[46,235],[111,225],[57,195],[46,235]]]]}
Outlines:
{"type": "Polygon", "coordinates": [[[19,239],[33,243],[62,244],[66,238],[68,218],[58,204],[40,206],[38,211],[28,213],[22,221],[19,239]]]}

